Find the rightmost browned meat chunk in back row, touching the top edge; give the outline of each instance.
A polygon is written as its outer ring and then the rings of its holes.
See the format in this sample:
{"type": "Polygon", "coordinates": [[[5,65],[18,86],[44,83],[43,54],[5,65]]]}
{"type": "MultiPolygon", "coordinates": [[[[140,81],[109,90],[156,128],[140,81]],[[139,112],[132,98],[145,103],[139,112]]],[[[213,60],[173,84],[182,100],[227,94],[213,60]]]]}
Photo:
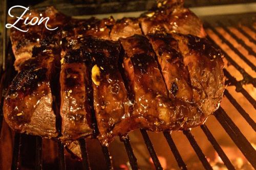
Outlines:
{"type": "Polygon", "coordinates": [[[177,32],[205,37],[202,21],[183,5],[183,1],[159,1],[157,10],[148,11],[141,16],[143,33],[177,32]]]}

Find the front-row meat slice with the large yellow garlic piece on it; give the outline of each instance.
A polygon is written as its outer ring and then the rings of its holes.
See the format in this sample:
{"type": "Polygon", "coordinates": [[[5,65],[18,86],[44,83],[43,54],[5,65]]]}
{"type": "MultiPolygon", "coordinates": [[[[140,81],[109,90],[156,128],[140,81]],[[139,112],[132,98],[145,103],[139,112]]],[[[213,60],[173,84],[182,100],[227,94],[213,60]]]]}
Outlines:
{"type": "MultiPolygon", "coordinates": [[[[91,78],[94,110],[99,130],[99,140],[108,145],[123,132],[119,123],[129,118],[131,102],[127,98],[118,69],[120,44],[96,38],[84,38],[84,56],[91,59],[91,78]]],[[[126,132],[126,131],[125,131],[126,132]]]]}

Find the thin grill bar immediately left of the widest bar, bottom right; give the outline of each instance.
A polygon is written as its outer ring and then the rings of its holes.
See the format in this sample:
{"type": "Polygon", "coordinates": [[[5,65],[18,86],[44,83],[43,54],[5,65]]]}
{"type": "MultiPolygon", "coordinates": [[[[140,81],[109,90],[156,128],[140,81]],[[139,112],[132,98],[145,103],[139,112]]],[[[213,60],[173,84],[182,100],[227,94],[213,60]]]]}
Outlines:
{"type": "Polygon", "coordinates": [[[219,143],[216,141],[214,136],[210,133],[209,129],[207,128],[206,125],[202,125],[201,129],[203,130],[204,134],[206,135],[207,139],[210,141],[212,147],[216,150],[218,155],[220,156],[221,160],[224,162],[224,164],[227,166],[228,169],[234,170],[234,166],[228,159],[227,155],[224,153],[222,148],[220,147],[219,143]]]}

